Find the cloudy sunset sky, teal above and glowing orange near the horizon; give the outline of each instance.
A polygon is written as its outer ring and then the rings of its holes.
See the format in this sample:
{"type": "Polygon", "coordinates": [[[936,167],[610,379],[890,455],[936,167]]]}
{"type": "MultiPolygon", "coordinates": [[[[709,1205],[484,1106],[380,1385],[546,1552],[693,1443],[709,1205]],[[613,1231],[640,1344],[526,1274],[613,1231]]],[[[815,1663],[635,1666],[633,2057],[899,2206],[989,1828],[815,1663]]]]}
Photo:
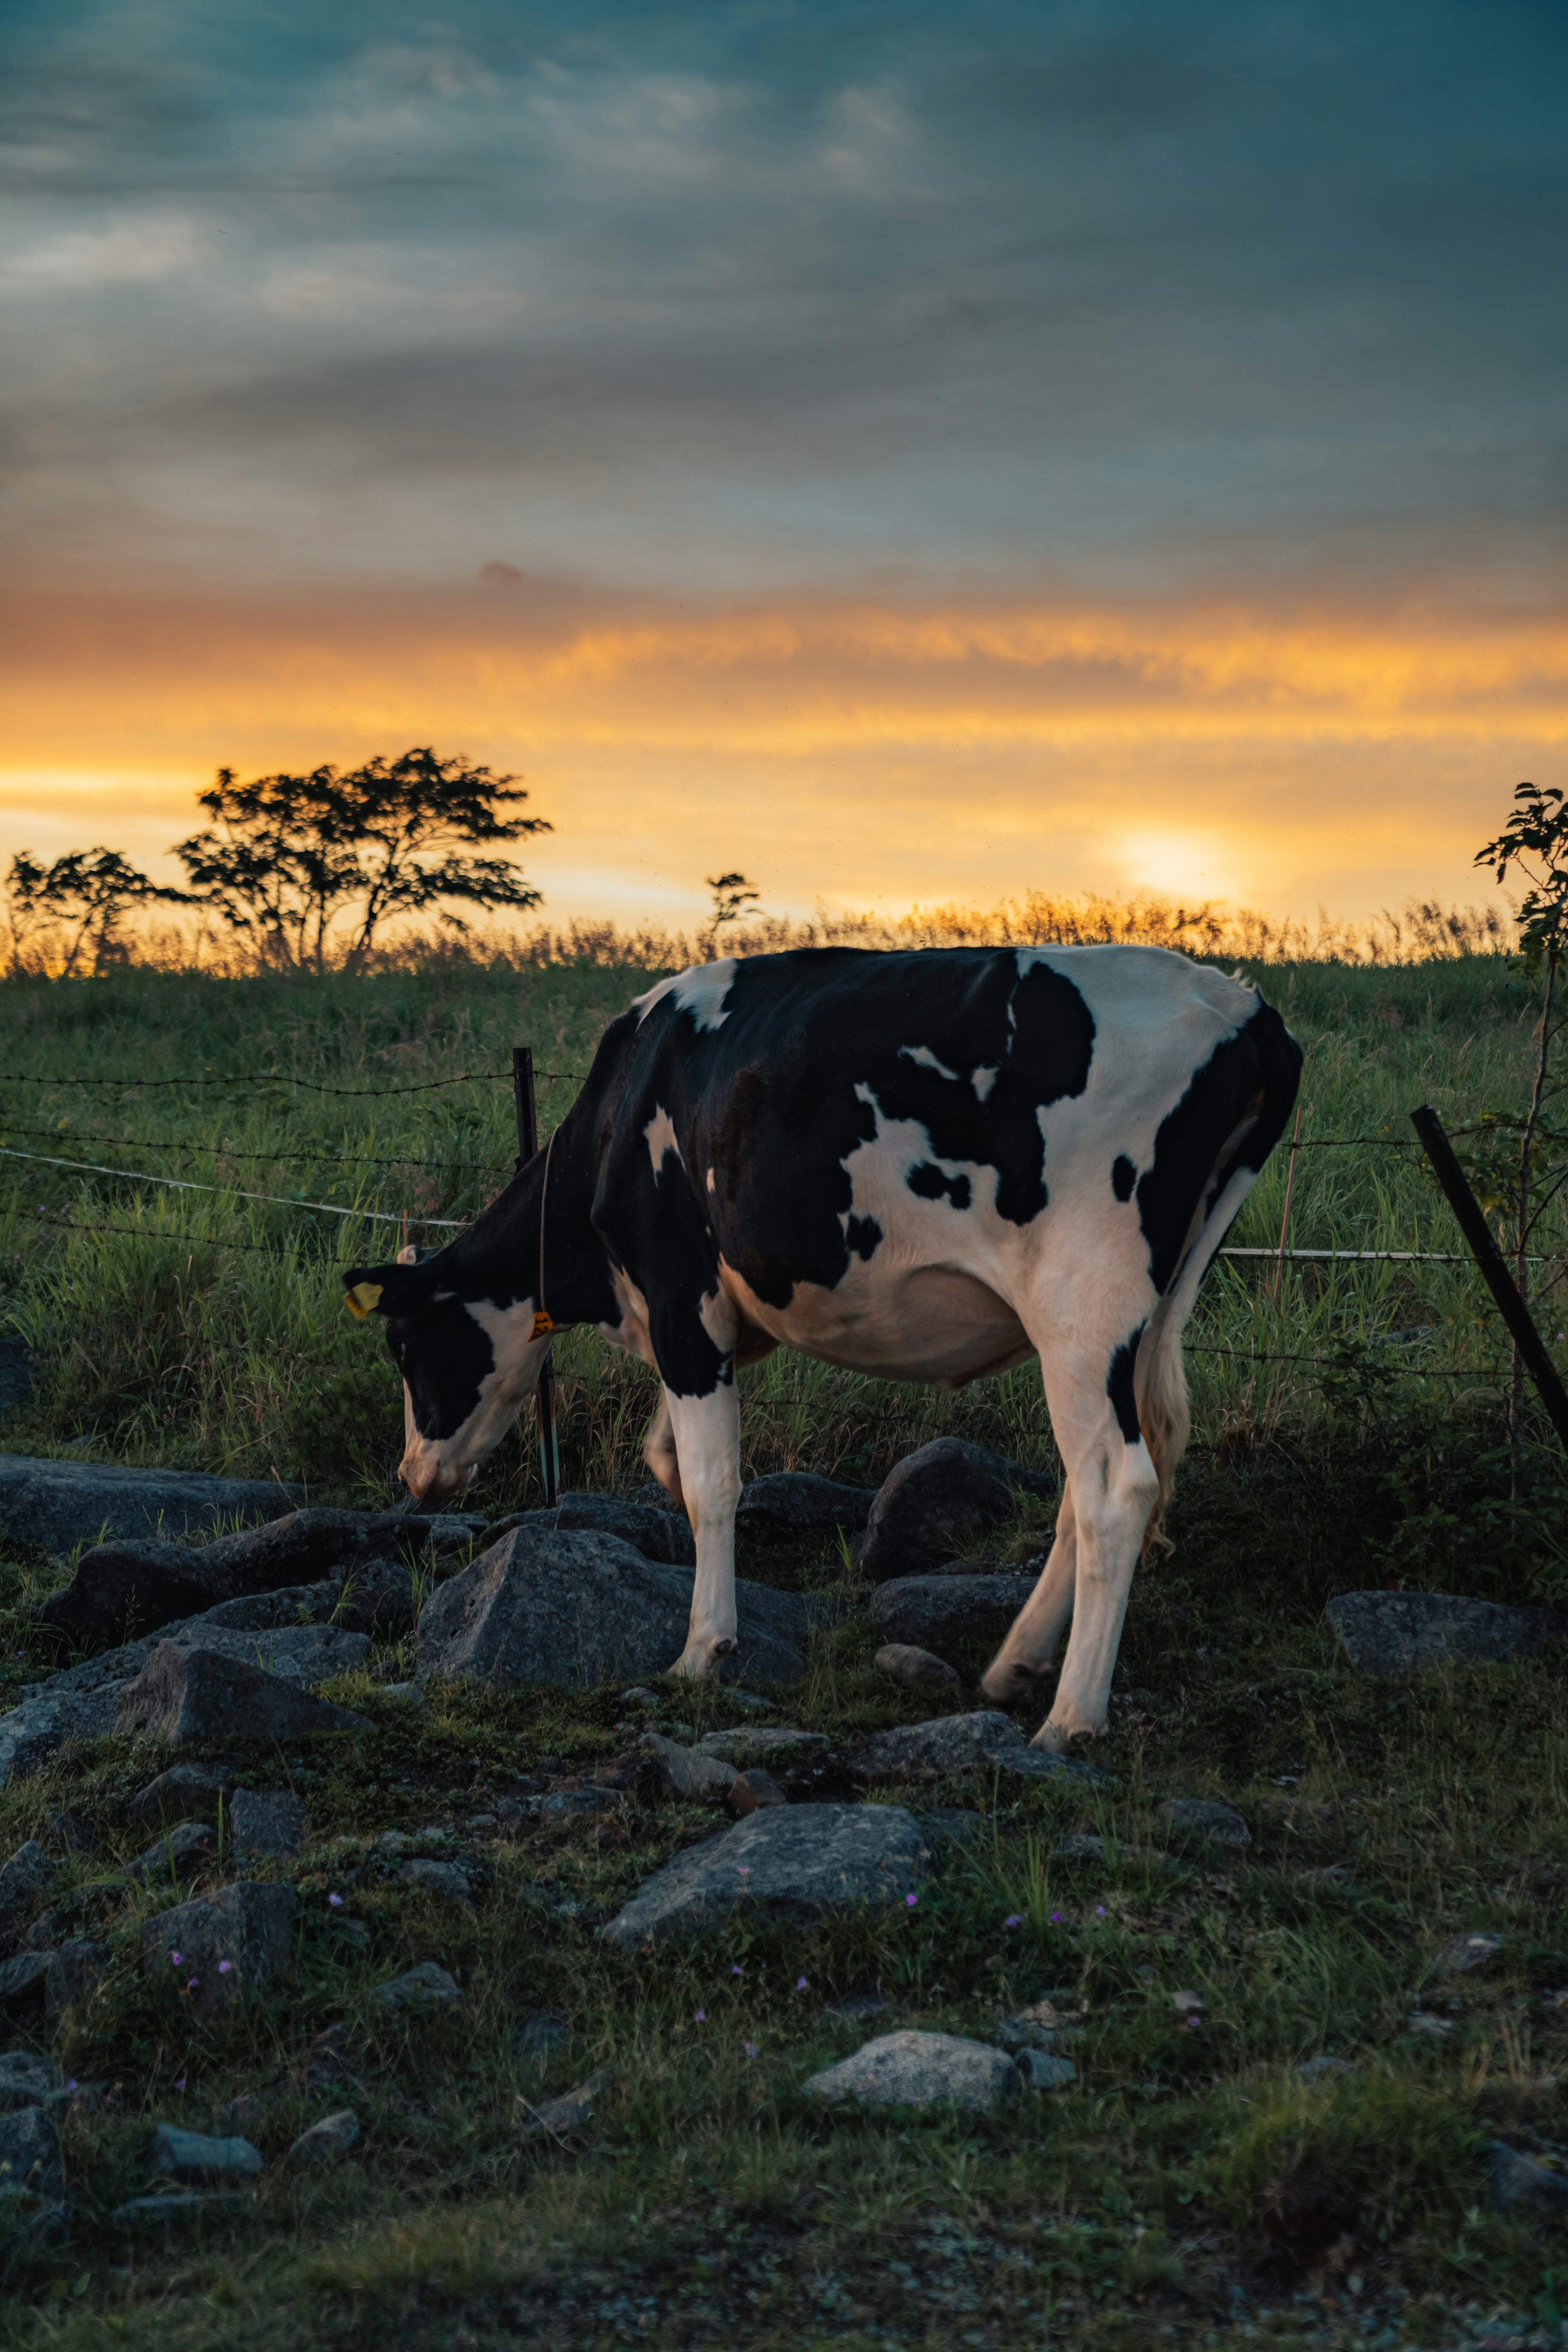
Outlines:
{"type": "Polygon", "coordinates": [[[524,774],[545,913],[1486,898],[1559,0],[12,0],[0,854],[524,774]]]}

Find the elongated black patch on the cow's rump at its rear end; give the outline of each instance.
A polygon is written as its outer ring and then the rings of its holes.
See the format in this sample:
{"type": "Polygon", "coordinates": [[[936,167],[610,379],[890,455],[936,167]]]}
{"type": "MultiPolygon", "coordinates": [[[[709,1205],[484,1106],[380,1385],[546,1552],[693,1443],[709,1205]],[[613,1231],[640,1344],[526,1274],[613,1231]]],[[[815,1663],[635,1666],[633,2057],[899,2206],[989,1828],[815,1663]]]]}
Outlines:
{"type": "Polygon", "coordinates": [[[1237,1169],[1260,1169],[1279,1143],[1295,1089],[1302,1049],[1272,1004],[1215,1047],[1175,1110],[1159,1122],[1154,1160],[1138,1183],[1138,1223],[1150,1244],[1150,1279],[1166,1294],[1182,1258],[1192,1221],[1208,1214],[1237,1169]],[[1253,1117],[1241,1143],[1227,1143],[1253,1117]],[[1225,1157],[1220,1157],[1225,1152],[1225,1157]]]}

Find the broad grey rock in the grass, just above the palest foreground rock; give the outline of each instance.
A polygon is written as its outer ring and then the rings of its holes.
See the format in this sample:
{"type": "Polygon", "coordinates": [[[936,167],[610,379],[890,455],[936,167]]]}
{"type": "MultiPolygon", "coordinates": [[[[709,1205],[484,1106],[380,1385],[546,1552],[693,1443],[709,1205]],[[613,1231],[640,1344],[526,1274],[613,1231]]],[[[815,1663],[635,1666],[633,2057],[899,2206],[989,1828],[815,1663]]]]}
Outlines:
{"type": "Polygon", "coordinates": [[[656,1870],[607,1929],[623,1950],[717,1926],[736,1903],[809,1922],[903,1900],[931,1860],[912,1813],[891,1804],[785,1804],[703,1839],[656,1870]]]}

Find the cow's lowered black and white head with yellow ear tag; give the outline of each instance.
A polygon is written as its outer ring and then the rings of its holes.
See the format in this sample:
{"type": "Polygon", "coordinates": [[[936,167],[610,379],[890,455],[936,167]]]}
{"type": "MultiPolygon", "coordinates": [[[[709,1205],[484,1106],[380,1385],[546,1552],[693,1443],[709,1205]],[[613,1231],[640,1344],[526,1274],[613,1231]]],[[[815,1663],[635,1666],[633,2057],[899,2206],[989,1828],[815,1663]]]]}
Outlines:
{"type": "Polygon", "coordinates": [[[538,1388],[550,1319],[505,1282],[482,1289],[447,1251],[343,1272],[350,1315],[383,1315],[402,1374],[400,1477],[418,1503],[454,1496],[538,1388]]]}

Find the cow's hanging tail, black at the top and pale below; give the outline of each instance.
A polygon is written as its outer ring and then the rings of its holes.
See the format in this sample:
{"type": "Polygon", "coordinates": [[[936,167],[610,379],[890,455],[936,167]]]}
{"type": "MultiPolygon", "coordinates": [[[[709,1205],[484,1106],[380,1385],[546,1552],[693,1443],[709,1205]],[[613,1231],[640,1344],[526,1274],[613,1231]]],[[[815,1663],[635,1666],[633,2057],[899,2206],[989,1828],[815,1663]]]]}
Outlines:
{"type": "Polygon", "coordinates": [[[1253,1051],[1248,1056],[1246,1091],[1234,1103],[1239,1117],[1229,1134],[1215,1138],[1218,1157],[1204,1195],[1194,1204],[1187,1249],[1175,1279],[1150,1317],[1133,1364],[1138,1428],[1159,1475],[1159,1498],[1143,1538],[1145,1559],[1154,1548],[1171,1550],[1171,1538],[1164,1531],[1166,1503],[1171,1501],[1175,1472],[1180,1470],[1192,1430],[1182,1331],[1197,1303],[1199,1284],[1213,1265],[1241,1202],[1253,1190],[1258,1169],[1286,1131],[1295,1105],[1295,1089],[1300,1087],[1302,1051],[1272,1004],[1260,1002],[1241,1035],[1253,1051]]]}

